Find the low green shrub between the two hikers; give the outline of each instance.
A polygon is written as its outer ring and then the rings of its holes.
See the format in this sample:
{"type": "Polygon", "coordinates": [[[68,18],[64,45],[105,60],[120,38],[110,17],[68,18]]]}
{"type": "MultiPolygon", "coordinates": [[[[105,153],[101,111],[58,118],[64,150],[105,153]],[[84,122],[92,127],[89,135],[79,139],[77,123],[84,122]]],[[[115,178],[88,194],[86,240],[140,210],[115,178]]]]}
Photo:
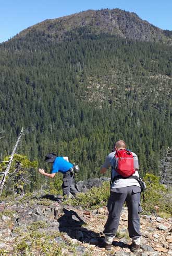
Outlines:
{"type": "Polygon", "coordinates": [[[79,193],[76,198],[68,199],[64,204],[78,205],[83,208],[96,208],[107,203],[110,194],[109,182],[104,182],[101,187],[93,187],[87,193],[79,193]]]}

